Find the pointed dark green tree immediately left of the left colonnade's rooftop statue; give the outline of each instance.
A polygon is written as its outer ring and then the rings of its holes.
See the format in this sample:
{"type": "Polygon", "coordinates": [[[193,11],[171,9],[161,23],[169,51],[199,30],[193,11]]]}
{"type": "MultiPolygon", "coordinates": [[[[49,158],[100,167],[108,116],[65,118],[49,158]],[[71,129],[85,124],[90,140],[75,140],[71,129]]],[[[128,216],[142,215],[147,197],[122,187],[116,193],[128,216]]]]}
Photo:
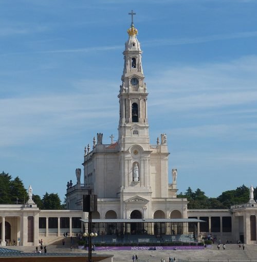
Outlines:
{"type": "Polygon", "coordinates": [[[15,203],[17,199],[19,202],[24,202],[28,199],[27,190],[24,188],[24,184],[19,177],[15,177],[10,181],[10,197],[11,203],[15,203]]]}

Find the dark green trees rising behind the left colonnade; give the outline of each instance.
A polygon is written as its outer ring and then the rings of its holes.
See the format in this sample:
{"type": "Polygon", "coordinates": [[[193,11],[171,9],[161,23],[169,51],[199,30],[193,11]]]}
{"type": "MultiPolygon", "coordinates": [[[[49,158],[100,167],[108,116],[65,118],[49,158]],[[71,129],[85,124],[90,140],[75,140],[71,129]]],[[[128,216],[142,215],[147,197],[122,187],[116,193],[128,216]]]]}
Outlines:
{"type": "MultiPolygon", "coordinates": [[[[28,192],[19,176],[12,179],[11,175],[3,171],[0,174],[0,204],[21,204],[27,200],[28,192]]],[[[32,200],[41,210],[66,209],[66,203],[61,203],[58,194],[46,192],[43,198],[39,195],[32,195],[32,200]]]]}

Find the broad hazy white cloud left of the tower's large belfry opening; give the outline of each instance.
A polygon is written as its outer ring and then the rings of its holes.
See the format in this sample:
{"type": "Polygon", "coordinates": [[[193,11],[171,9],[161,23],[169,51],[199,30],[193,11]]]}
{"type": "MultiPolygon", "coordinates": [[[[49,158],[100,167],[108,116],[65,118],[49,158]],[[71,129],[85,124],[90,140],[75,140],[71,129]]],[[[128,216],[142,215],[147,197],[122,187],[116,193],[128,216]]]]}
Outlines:
{"type": "Polygon", "coordinates": [[[0,146],[26,144],[40,137],[72,133],[85,125],[94,126],[116,117],[117,108],[105,103],[111,93],[67,93],[43,97],[0,100],[0,146]],[[73,130],[73,131],[72,131],[73,130]]]}

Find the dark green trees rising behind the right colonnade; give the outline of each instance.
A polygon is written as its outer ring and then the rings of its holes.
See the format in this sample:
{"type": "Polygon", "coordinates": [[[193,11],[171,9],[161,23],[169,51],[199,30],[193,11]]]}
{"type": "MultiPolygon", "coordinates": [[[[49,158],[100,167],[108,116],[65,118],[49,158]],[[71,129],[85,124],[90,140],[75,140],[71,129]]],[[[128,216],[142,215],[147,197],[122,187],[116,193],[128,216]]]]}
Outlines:
{"type": "MultiPolygon", "coordinates": [[[[206,196],[200,189],[193,192],[190,187],[184,194],[181,192],[177,197],[188,199],[188,209],[228,209],[231,205],[247,203],[249,195],[249,188],[243,184],[235,190],[223,192],[216,198],[206,196]]],[[[257,187],[253,191],[253,197],[254,199],[257,197],[257,187]]]]}

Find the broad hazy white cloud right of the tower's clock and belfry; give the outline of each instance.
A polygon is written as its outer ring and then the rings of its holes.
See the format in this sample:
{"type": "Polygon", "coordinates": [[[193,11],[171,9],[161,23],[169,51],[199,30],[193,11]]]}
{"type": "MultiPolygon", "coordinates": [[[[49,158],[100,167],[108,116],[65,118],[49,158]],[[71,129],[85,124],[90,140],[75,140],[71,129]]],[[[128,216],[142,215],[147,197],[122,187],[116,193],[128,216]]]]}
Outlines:
{"type": "Polygon", "coordinates": [[[255,110],[256,71],[257,57],[249,56],[226,63],[173,66],[152,72],[148,86],[154,101],[150,106],[189,110],[252,105],[251,110],[255,110]]]}

